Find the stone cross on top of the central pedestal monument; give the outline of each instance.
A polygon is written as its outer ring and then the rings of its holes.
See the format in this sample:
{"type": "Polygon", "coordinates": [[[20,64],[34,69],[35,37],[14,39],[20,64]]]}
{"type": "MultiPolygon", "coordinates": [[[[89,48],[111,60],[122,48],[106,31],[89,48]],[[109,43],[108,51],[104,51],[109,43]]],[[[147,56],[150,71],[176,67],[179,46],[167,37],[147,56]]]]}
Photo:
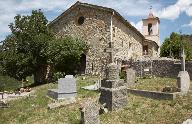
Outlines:
{"type": "Polygon", "coordinates": [[[110,63],[114,62],[114,56],[115,52],[117,52],[117,49],[114,48],[114,42],[109,43],[109,48],[105,49],[107,53],[110,54],[110,63]]]}

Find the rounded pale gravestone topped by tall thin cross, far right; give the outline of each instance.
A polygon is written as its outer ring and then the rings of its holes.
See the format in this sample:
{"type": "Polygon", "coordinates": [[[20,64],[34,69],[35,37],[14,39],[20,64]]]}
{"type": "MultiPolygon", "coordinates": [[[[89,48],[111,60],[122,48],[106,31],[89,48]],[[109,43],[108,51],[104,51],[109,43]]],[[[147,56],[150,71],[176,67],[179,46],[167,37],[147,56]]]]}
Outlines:
{"type": "Polygon", "coordinates": [[[185,71],[185,53],[184,49],[182,50],[182,59],[181,59],[181,70],[177,76],[177,86],[179,91],[182,94],[186,94],[189,91],[190,87],[190,77],[189,73],[185,71]]]}

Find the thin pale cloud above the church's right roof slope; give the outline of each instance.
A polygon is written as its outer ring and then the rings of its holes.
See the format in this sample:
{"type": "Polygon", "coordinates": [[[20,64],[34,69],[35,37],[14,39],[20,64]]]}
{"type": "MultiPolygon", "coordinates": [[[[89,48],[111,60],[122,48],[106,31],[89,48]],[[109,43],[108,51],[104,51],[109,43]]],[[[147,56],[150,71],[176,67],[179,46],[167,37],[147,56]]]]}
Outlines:
{"type": "Polygon", "coordinates": [[[100,6],[110,7],[117,10],[123,16],[147,16],[150,5],[153,5],[154,10],[160,9],[162,6],[156,2],[149,0],[82,0],[100,6]]]}

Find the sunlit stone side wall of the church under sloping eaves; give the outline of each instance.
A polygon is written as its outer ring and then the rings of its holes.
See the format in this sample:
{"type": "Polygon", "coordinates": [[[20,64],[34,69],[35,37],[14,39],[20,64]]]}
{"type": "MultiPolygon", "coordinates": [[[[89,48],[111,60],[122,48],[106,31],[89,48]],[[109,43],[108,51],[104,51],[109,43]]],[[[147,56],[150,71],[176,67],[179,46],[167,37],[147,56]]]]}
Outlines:
{"type": "Polygon", "coordinates": [[[118,49],[116,58],[121,60],[138,59],[142,56],[141,36],[130,27],[125,26],[118,18],[113,18],[113,42],[118,49]]]}

